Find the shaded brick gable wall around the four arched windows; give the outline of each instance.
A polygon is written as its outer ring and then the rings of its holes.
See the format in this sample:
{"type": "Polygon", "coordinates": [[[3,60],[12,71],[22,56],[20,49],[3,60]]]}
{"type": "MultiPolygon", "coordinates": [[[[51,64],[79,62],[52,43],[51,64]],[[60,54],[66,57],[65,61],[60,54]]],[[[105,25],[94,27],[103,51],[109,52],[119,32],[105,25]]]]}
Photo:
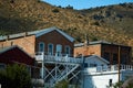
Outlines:
{"type": "Polygon", "coordinates": [[[48,53],[48,44],[52,43],[53,44],[53,53],[55,53],[55,46],[57,44],[62,45],[62,54],[64,54],[64,47],[65,45],[69,45],[71,47],[71,55],[73,55],[73,43],[70,42],[66,37],[64,37],[62,34],[60,34],[57,31],[52,31],[50,33],[47,33],[44,35],[41,35],[37,37],[35,41],[35,51],[39,51],[39,43],[43,42],[44,43],[44,52],[48,53]]]}

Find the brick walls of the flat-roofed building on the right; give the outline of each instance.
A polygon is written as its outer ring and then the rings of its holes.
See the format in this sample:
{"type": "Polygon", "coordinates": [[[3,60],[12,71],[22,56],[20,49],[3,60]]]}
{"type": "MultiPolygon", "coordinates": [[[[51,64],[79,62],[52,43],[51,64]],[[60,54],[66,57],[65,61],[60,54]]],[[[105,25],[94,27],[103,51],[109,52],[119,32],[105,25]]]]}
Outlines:
{"type": "MultiPolygon", "coordinates": [[[[110,64],[117,64],[119,45],[95,44],[89,46],[74,47],[74,56],[78,56],[78,54],[82,54],[82,55],[98,55],[105,58],[104,53],[109,53],[110,64]],[[116,55],[115,57],[114,54],[116,55]]],[[[125,61],[125,64],[131,64],[131,56],[132,56],[131,47],[121,46],[121,63],[125,61]]]]}

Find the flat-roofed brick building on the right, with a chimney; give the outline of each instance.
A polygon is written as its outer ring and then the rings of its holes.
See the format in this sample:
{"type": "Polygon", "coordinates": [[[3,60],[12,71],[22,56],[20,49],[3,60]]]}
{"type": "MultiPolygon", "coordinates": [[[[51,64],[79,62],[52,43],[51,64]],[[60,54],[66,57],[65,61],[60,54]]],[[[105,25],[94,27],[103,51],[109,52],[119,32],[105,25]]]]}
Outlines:
{"type": "Polygon", "coordinates": [[[110,62],[111,65],[117,64],[120,48],[121,64],[130,64],[132,48],[130,46],[109,43],[105,41],[90,42],[89,44],[80,43],[74,45],[74,56],[79,55],[98,55],[110,62]]]}

